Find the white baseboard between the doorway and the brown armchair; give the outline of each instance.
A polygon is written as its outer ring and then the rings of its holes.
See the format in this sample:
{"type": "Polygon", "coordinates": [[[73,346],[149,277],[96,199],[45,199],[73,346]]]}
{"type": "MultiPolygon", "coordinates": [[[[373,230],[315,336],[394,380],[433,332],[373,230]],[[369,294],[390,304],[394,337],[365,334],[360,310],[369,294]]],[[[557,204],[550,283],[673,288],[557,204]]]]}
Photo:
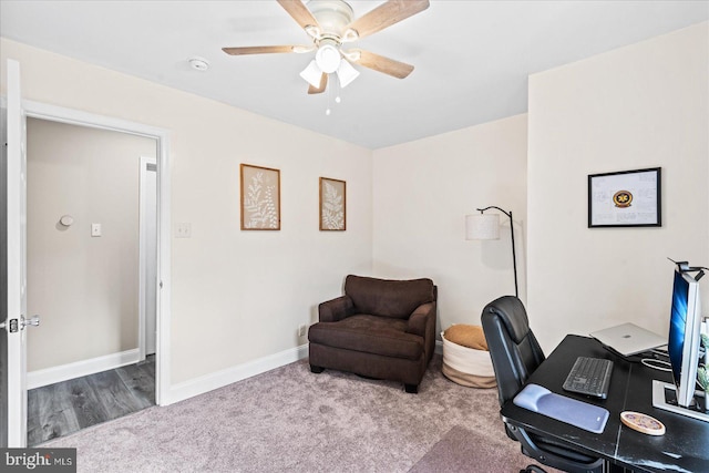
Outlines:
{"type": "Polygon", "coordinates": [[[189,381],[184,381],[171,387],[167,402],[161,405],[184,401],[186,399],[194,398],[195,395],[204,394],[205,392],[223,388],[227,384],[232,384],[233,382],[265,373],[266,371],[292,363],[304,358],[308,358],[307,345],[301,345],[244,364],[227,368],[189,381]]]}

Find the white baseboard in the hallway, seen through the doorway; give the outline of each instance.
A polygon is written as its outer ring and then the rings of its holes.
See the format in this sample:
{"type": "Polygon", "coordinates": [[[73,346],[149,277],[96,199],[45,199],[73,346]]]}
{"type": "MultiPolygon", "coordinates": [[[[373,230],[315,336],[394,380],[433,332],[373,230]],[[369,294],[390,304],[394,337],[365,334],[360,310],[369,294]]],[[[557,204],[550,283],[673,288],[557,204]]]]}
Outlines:
{"type": "Polygon", "coordinates": [[[29,371],[27,373],[27,389],[41,388],[43,385],[54,384],[55,382],[100,373],[101,371],[113,370],[126,364],[137,363],[140,360],[140,350],[134,348],[133,350],[105,354],[103,357],[91,358],[89,360],[75,361],[73,363],[61,364],[59,367],[29,371]]]}

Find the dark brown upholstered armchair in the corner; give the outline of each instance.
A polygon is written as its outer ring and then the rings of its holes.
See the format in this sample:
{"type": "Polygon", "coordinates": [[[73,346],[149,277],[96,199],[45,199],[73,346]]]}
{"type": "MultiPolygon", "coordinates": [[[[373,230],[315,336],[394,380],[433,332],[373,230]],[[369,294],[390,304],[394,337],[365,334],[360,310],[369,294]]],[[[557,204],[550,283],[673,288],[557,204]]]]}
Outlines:
{"type": "Polygon", "coordinates": [[[308,330],[310,370],[401,381],[418,392],[435,348],[436,296],[431,279],[349,275],[345,296],[320,304],[308,330]]]}

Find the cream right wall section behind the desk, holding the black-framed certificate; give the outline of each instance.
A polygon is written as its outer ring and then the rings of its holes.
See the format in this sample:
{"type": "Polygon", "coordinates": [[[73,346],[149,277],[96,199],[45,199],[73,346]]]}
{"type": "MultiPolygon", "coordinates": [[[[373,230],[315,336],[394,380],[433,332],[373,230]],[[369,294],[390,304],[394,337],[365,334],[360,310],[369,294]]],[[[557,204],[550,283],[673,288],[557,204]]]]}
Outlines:
{"type": "Polygon", "coordinates": [[[530,78],[527,309],[547,351],[623,321],[667,335],[667,257],[709,266],[707,24],[530,78]],[[588,174],[655,166],[661,228],[587,228],[588,174]]]}

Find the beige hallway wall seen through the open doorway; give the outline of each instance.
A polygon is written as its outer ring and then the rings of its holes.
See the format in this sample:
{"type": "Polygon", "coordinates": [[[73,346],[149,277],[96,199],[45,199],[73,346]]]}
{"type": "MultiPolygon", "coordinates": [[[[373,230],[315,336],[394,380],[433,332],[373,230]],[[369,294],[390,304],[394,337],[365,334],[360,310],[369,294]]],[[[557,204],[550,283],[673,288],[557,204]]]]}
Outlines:
{"type": "Polygon", "coordinates": [[[156,142],[29,119],[27,145],[28,371],[137,349],[138,165],[156,142]]]}

